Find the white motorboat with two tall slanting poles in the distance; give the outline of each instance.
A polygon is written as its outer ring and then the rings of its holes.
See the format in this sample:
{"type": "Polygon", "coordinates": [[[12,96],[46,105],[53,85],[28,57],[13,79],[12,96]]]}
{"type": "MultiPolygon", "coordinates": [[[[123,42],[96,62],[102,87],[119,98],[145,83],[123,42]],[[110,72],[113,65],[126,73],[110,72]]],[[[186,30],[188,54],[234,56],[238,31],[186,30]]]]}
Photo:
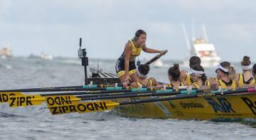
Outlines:
{"type": "MultiPolygon", "coordinates": [[[[188,46],[188,50],[190,52],[190,57],[196,55],[199,58],[201,58],[201,65],[205,68],[212,68],[218,65],[218,63],[220,63],[220,56],[216,53],[215,46],[213,45],[213,43],[208,42],[206,28],[203,24],[202,29],[204,38],[195,38],[193,36],[191,43],[188,41],[186,28],[185,26],[183,26],[183,24],[182,28],[186,40],[186,45],[188,46]]],[[[189,58],[185,60],[184,65],[188,65],[188,60],[189,58]]]]}

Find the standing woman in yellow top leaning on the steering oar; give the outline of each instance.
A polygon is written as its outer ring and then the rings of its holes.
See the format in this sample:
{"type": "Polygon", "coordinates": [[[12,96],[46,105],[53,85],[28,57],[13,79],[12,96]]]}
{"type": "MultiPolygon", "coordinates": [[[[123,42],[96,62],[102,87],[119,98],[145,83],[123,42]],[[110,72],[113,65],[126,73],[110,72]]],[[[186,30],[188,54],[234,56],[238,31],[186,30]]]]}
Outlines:
{"type": "Polygon", "coordinates": [[[140,55],[142,50],[146,53],[160,53],[161,55],[166,53],[164,50],[146,48],[146,32],[138,30],[134,38],[125,44],[124,52],[118,58],[115,66],[117,76],[122,84],[132,81],[139,82],[136,74],[135,58],[140,55]]]}

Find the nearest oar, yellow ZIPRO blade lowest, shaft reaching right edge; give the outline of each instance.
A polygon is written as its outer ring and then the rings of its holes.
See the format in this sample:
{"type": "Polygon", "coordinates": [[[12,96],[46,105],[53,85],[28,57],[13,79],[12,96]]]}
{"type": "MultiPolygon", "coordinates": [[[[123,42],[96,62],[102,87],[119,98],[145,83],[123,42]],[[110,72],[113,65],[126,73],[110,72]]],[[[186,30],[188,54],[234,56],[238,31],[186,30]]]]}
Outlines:
{"type": "Polygon", "coordinates": [[[238,89],[238,90],[229,90],[226,92],[206,92],[206,93],[197,93],[197,94],[187,94],[187,95],[169,95],[162,97],[154,97],[148,99],[135,99],[135,100],[127,100],[124,102],[112,102],[111,100],[102,100],[98,102],[75,102],[70,103],[66,102],[66,104],[58,104],[53,101],[53,99],[48,99],[46,97],[46,103],[48,105],[48,109],[52,114],[65,114],[65,113],[86,113],[86,112],[99,112],[103,110],[114,109],[114,107],[118,107],[119,105],[125,104],[139,104],[146,102],[160,102],[160,101],[168,101],[173,99],[188,99],[188,98],[196,98],[196,97],[214,97],[219,95],[230,95],[235,93],[242,92],[251,92],[251,94],[256,94],[256,87],[249,87],[246,89],[238,89]]]}

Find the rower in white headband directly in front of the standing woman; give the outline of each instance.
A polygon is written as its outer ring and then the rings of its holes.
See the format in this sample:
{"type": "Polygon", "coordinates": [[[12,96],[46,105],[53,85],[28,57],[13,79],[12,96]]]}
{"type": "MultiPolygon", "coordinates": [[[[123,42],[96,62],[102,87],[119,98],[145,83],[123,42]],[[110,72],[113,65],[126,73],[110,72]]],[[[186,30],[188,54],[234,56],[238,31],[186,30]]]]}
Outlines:
{"type": "Polygon", "coordinates": [[[159,82],[156,81],[154,77],[147,78],[147,74],[149,73],[149,65],[139,65],[137,68],[137,77],[139,78],[138,82],[132,82],[131,87],[153,87],[159,85],[159,82]]]}

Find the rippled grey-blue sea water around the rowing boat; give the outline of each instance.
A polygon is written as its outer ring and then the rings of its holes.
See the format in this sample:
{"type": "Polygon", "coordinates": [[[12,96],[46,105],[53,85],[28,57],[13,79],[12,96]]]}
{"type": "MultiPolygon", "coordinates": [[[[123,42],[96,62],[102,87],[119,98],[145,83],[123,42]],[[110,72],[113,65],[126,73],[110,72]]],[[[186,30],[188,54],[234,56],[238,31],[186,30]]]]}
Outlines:
{"type": "MultiPolygon", "coordinates": [[[[89,63],[97,66],[97,60],[89,63]]],[[[181,62],[164,61],[162,68],[151,68],[149,76],[168,82],[167,70],[174,63],[181,62]]],[[[104,72],[114,73],[115,60],[99,64],[104,72]]],[[[71,58],[0,60],[0,90],[83,85],[83,70],[80,60],[71,58]]],[[[215,76],[215,70],[208,68],[206,74],[215,76]]],[[[45,103],[18,108],[0,104],[0,139],[256,139],[255,126],[255,119],[138,119],[112,111],[53,116],[45,103]]]]}

